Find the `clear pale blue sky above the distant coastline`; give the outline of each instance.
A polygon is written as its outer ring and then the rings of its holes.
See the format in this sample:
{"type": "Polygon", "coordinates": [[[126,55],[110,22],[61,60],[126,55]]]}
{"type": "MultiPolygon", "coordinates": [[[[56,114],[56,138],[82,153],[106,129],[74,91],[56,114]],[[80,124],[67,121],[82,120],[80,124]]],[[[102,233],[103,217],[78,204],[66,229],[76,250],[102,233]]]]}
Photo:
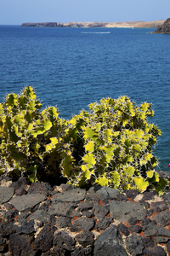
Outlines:
{"type": "Polygon", "coordinates": [[[0,25],[166,20],[169,10],[170,0],[0,0],[0,25]]]}

